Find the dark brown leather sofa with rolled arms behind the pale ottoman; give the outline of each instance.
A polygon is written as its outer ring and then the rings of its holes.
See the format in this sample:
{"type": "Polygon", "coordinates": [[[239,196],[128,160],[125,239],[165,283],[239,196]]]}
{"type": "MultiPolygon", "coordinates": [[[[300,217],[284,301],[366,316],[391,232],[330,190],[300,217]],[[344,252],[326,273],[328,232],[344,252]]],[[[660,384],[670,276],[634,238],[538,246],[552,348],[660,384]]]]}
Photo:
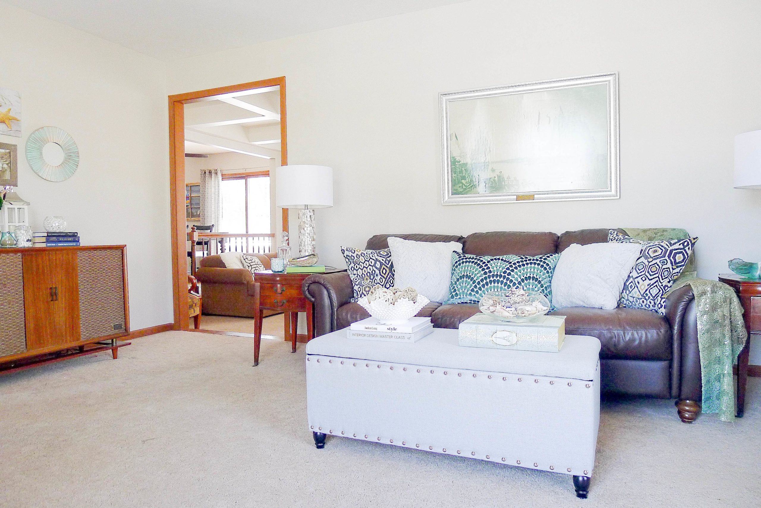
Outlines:
{"type": "MultiPolygon", "coordinates": [[[[562,252],[570,244],[607,241],[608,229],[582,229],[562,235],[543,232],[488,232],[457,235],[375,235],[366,248],[387,248],[387,238],[416,241],[460,241],[465,254],[537,256],[562,252]]],[[[314,302],[315,335],[340,330],[369,315],[352,302],[349,275],[314,274],[304,280],[304,295],[314,302]]],[[[204,295],[205,298],[205,295],[204,295]]],[[[419,316],[430,316],[435,327],[457,328],[479,312],[475,304],[426,305],[419,316]]],[[[666,315],[635,308],[569,307],[553,312],[567,316],[565,333],[600,339],[603,391],[677,399],[683,422],[693,422],[700,411],[702,383],[697,324],[692,289],[684,286],[667,298],[666,315]]]]}

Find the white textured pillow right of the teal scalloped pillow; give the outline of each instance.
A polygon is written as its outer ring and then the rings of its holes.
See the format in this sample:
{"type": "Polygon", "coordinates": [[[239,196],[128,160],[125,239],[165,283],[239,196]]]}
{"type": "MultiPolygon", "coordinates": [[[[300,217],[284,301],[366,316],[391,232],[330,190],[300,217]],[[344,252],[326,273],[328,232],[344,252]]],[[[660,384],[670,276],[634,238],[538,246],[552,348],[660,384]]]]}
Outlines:
{"type": "Polygon", "coordinates": [[[642,245],[571,244],[560,254],[552,274],[552,305],[618,307],[621,289],[639,257],[642,245]],[[629,245],[629,248],[621,248],[629,245]]]}

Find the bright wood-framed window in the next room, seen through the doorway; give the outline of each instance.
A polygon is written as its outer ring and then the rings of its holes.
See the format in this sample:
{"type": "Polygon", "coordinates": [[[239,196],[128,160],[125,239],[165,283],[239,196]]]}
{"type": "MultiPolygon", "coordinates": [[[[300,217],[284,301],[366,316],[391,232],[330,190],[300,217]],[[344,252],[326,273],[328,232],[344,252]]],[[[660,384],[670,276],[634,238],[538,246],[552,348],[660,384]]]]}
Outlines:
{"type": "Polygon", "coordinates": [[[271,233],[269,171],[222,177],[219,232],[271,233]]]}

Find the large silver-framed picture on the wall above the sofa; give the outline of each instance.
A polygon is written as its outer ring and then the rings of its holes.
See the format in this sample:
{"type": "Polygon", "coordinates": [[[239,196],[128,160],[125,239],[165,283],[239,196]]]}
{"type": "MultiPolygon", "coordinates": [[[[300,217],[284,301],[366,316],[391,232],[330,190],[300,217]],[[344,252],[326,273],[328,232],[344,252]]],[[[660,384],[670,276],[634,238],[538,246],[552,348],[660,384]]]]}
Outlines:
{"type": "Polygon", "coordinates": [[[445,205],[619,197],[617,72],[439,97],[445,205]]]}

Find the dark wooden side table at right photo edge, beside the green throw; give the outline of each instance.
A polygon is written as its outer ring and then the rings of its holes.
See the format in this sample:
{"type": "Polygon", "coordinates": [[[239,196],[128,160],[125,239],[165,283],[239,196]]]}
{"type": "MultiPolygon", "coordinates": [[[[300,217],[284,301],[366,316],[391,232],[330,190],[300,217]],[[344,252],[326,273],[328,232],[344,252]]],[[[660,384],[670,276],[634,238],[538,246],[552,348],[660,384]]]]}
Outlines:
{"type": "Polygon", "coordinates": [[[728,284],[740,297],[743,318],[748,330],[748,340],[737,356],[737,416],[745,411],[745,387],[748,382],[748,359],[750,358],[750,337],[761,335],[761,280],[747,280],[734,273],[724,273],[718,280],[728,284]]]}

